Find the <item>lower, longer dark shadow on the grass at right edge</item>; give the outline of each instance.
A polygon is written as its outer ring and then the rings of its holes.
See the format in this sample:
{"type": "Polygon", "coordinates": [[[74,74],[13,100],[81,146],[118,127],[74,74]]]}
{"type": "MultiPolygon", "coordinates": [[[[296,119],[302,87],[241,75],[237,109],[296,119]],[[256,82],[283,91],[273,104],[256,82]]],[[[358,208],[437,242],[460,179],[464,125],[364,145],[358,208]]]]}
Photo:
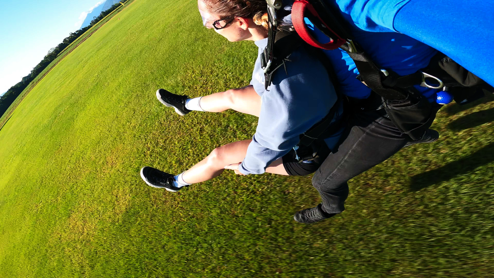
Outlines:
{"type": "Polygon", "coordinates": [[[448,163],[441,168],[413,176],[410,182],[410,189],[419,191],[431,185],[451,180],[455,176],[471,172],[475,168],[492,161],[494,161],[494,142],[468,157],[448,163]]]}

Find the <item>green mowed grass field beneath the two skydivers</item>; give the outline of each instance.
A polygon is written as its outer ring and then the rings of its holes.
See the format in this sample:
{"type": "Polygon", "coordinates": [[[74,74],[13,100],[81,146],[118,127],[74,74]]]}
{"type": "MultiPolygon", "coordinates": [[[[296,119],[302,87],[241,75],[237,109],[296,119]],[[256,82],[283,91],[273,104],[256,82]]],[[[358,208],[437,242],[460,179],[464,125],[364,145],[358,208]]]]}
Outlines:
{"type": "Polygon", "coordinates": [[[202,27],[195,0],[135,0],[62,60],[0,130],[0,277],[492,277],[494,99],[441,111],[441,139],[350,181],[346,211],[302,225],[311,177],[179,173],[250,138],[235,112],[180,117],[160,87],[247,85],[257,53],[202,27]]]}

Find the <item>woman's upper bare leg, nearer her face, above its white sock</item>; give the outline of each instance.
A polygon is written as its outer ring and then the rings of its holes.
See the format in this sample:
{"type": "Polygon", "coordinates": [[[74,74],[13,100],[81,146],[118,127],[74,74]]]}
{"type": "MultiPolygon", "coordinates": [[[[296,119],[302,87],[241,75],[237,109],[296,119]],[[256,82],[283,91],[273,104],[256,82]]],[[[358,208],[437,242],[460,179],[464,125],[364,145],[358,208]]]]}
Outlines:
{"type": "Polygon", "coordinates": [[[228,109],[259,117],[261,97],[254,87],[247,86],[214,93],[201,98],[201,108],[207,112],[223,112],[228,109]]]}

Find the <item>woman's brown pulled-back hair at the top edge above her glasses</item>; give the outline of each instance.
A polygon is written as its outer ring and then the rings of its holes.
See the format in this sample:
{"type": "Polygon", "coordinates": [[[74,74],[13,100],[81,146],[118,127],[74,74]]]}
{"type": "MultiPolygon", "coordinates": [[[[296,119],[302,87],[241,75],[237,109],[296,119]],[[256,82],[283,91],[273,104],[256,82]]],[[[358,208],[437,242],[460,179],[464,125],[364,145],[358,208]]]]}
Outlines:
{"type": "Polygon", "coordinates": [[[225,17],[250,17],[268,29],[266,0],[203,0],[209,11],[225,17]]]}

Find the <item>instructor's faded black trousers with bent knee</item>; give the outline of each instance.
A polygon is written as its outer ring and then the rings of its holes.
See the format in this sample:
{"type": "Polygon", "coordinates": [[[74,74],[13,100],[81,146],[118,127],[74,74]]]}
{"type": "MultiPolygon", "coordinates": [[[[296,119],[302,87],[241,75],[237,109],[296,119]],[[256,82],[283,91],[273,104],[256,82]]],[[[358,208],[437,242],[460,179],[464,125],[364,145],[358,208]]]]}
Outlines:
{"type": "Polygon", "coordinates": [[[321,195],[323,210],[342,212],[348,197],[348,180],[390,158],[410,140],[387,118],[384,109],[354,111],[341,144],[312,178],[312,185],[321,195]]]}

